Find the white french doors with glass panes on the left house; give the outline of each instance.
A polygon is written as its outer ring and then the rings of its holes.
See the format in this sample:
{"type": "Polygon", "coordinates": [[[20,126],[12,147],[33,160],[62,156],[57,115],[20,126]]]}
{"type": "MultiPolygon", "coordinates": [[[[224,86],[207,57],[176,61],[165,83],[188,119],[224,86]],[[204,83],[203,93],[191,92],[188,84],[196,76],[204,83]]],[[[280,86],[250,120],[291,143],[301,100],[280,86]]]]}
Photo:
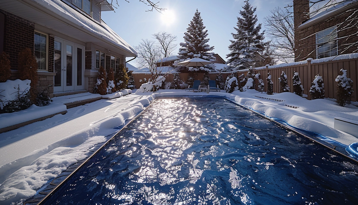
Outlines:
{"type": "Polygon", "coordinates": [[[55,38],[54,92],[83,90],[84,47],[55,38]]]}

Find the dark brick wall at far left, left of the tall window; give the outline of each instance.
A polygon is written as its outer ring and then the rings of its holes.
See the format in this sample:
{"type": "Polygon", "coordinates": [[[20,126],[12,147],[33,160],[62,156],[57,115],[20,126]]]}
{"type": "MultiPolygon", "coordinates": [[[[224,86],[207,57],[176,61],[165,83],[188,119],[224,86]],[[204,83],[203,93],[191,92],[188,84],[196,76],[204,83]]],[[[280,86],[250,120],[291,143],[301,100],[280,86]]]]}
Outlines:
{"type": "Polygon", "coordinates": [[[34,30],[35,25],[29,20],[20,16],[13,15],[4,10],[5,14],[5,34],[4,51],[9,54],[12,70],[18,69],[18,54],[23,48],[34,50],[34,30]]]}

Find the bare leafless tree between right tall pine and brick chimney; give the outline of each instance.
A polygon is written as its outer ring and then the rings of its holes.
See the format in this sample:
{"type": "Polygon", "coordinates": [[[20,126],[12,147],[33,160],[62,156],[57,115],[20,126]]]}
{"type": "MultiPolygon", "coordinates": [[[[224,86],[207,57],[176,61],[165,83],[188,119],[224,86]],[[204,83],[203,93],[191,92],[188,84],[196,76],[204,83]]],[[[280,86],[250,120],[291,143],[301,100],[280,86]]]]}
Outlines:
{"type": "Polygon", "coordinates": [[[285,63],[295,60],[295,29],[293,14],[287,9],[276,7],[265,17],[266,34],[272,39],[276,57],[285,63]]]}

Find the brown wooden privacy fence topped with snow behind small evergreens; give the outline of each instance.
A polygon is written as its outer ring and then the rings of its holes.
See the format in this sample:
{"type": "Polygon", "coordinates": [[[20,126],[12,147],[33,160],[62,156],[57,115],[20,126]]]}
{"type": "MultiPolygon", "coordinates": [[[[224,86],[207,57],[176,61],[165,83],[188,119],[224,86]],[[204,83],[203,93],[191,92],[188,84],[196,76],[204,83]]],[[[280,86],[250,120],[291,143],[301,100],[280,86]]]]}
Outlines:
{"type": "MultiPolygon", "coordinates": [[[[346,54],[348,55],[348,54],[346,54]]],[[[341,55],[344,56],[344,55],[341,55]]],[[[293,92],[293,82],[292,77],[294,72],[298,72],[301,78],[301,83],[303,85],[304,91],[303,93],[308,96],[308,99],[311,99],[309,90],[311,87],[311,82],[314,80],[315,75],[320,73],[323,77],[325,97],[336,98],[337,94],[337,82],[335,82],[335,78],[338,76],[340,69],[347,70],[347,75],[349,78],[353,80],[353,89],[354,92],[352,94],[352,101],[357,101],[357,92],[358,92],[358,58],[350,58],[350,59],[339,59],[339,60],[331,60],[324,61],[324,59],[311,59],[309,58],[307,61],[299,61],[294,63],[285,63],[276,66],[267,66],[254,68],[255,73],[260,73],[263,81],[265,82],[265,91],[267,91],[267,73],[270,72],[272,78],[271,80],[274,82],[274,92],[280,92],[279,87],[279,77],[281,72],[284,71],[287,75],[287,83],[290,86],[290,92],[293,92]]],[[[338,57],[337,57],[338,59],[338,57]]],[[[246,76],[248,70],[237,71],[238,76],[244,74],[246,76]]],[[[188,73],[178,73],[180,78],[183,81],[186,81],[188,78],[188,73]]],[[[135,80],[136,88],[139,88],[143,83],[143,79],[150,79],[150,74],[132,74],[135,80]],[[142,80],[142,82],[140,82],[142,80]]],[[[202,80],[203,73],[194,74],[195,80],[202,80]]],[[[210,79],[215,80],[218,73],[210,73],[210,79]]],[[[224,80],[229,72],[222,72],[224,80]]],[[[170,74],[166,81],[171,82],[173,80],[173,74],[170,74]]],[[[257,80],[256,89],[257,89],[257,80]]]]}

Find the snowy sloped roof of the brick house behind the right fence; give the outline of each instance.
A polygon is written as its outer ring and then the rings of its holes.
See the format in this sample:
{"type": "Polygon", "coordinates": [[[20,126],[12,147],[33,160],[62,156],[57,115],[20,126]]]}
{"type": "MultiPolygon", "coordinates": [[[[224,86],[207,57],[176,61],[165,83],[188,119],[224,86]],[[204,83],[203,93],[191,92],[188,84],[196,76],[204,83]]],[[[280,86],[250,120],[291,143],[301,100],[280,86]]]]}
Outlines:
{"type": "Polygon", "coordinates": [[[350,0],[350,1],[346,1],[346,0],[335,0],[332,5],[330,5],[327,8],[323,8],[323,9],[318,9],[318,11],[316,13],[311,14],[310,19],[308,19],[305,23],[299,25],[300,27],[304,27],[305,25],[311,24],[313,22],[315,22],[316,20],[328,17],[329,15],[333,14],[334,12],[337,12],[343,8],[345,8],[346,6],[350,6],[354,3],[358,3],[358,0],[350,0]]]}

